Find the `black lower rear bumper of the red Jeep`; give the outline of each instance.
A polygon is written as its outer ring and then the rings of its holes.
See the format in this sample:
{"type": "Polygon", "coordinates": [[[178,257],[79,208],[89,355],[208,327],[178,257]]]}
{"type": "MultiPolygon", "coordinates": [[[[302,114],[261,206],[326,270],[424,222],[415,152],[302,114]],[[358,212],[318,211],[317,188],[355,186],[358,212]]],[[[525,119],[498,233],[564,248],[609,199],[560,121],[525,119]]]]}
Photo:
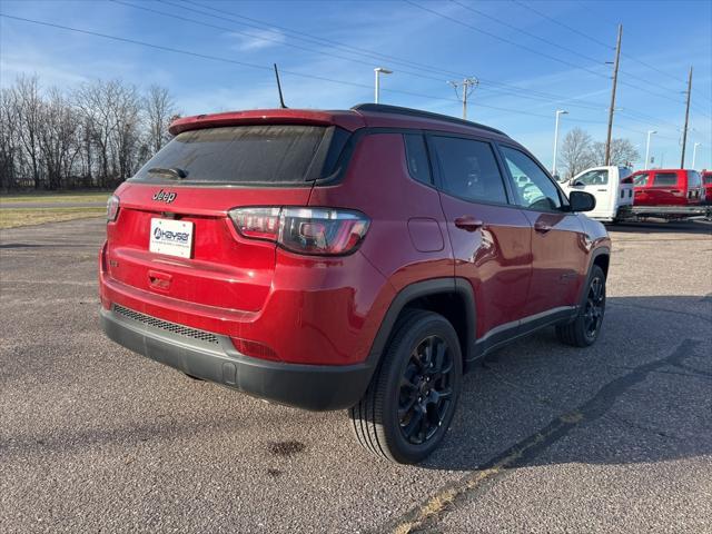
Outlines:
{"type": "Polygon", "coordinates": [[[238,353],[227,336],[192,330],[204,335],[189,337],[180,333],[185,330],[180,325],[174,325],[171,332],[113,309],[101,308],[100,314],[107,336],[135,353],[198,378],[298,408],[348,408],[363,396],[373,374],[368,363],[328,366],[263,360],[238,353]]]}

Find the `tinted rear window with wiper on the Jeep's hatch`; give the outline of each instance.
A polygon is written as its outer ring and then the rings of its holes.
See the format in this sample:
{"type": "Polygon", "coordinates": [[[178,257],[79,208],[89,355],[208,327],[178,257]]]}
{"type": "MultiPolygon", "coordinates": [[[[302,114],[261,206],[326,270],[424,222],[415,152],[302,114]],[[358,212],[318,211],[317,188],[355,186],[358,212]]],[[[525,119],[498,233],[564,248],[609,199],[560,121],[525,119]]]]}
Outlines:
{"type": "Polygon", "coordinates": [[[304,182],[327,128],[266,125],[208,128],[179,134],[156,154],[135,180],[165,180],[179,169],[179,182],[304,182]]]}

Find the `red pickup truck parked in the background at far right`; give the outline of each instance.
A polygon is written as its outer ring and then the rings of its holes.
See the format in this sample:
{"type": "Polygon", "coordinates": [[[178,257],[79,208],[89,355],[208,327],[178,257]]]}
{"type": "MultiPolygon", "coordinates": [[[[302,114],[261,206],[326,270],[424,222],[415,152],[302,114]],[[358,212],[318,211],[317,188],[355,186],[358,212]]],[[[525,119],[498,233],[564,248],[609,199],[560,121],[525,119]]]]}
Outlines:
{"type": "Polygon", "coordinates": [[[702,177],[692,169],[639,170],[633,175],[633,214],[682,219],[709,215],[702,177]]]}

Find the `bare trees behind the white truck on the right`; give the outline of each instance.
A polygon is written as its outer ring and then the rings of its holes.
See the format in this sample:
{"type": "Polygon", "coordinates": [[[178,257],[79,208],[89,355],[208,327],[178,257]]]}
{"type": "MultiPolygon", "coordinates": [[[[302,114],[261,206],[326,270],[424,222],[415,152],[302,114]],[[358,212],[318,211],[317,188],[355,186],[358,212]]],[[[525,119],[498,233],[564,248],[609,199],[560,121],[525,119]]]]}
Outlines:
{"type": "MultiPolygon", "coordinates": [[[[589,132],[574,128],[566,134],[561,146],[560,161],[565,177],[572,178],[590,167],[605,165],[605,142],[594,141],[589,132]]],[[[611,140],[611,165],[630,167],[640,154],[629,139],[611,140]]]]}

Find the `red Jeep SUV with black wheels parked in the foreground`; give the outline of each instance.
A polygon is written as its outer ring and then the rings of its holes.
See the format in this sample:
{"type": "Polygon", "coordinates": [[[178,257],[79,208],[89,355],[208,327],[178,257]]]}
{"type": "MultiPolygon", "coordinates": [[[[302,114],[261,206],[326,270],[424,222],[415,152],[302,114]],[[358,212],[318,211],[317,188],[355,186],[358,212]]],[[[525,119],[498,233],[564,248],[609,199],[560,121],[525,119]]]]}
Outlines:
{"type": "Polygon", "coordinates": [[[443,439],[473,363],[546,326],[584,347],[610,240],[505,134],[382,105],[178,119],[108,205],[101,323],[257,397],[348,408],[379,456],[443,439]],[[516,178],[516,179],[515,179],[516,178]]]}

